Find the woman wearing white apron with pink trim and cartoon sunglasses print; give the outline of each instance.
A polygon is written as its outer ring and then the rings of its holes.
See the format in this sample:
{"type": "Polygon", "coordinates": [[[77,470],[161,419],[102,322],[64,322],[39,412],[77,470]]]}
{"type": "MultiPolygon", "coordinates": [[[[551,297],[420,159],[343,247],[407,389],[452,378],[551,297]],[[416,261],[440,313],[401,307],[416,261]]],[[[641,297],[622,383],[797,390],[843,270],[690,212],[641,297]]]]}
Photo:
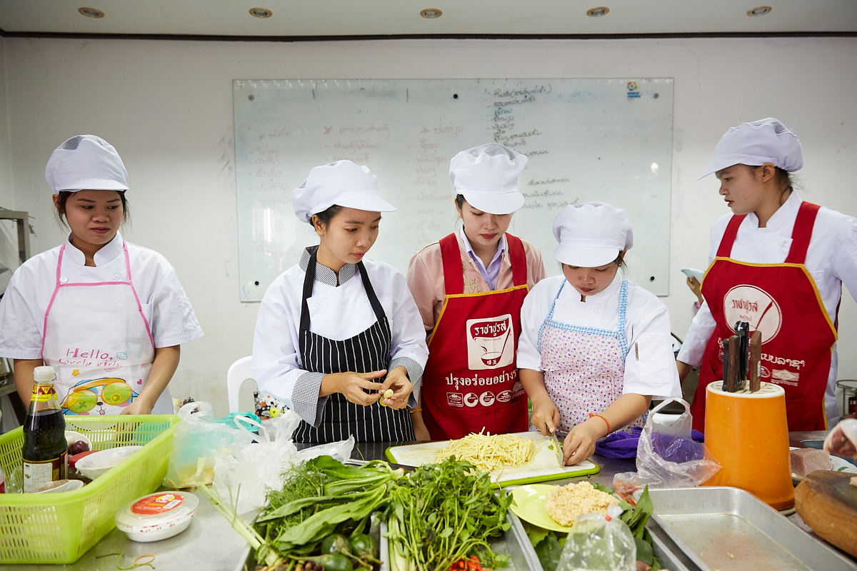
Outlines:
{"type": "Polygon", "coordinates": [[[45,364],[63,413],[172,413],[179,346],[202,330],[164,256],[119,234],[122,159],[107,141],[78,135],[51,154],[45,179],[68,240],[22,264],[0,302],[0,355],[15,360],[21,400],[45,364]]]}

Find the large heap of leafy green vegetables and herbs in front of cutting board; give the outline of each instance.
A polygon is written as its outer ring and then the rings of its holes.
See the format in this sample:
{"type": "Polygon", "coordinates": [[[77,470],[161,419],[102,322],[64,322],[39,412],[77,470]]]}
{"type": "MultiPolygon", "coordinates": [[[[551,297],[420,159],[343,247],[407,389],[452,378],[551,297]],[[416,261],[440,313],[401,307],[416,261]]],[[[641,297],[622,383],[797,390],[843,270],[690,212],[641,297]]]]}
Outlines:
{"type": "Polygon", "coordinates": [[[392,571],[506,565],[508,557],[495,554],[488,540],[511,525],[506,510],[512,497],[494,495],[487,472],[453,456],[404,476],[384,461],[351,467],[320,456],[283,474],[283,488],[268,493],[252,526],[225,508],[216,492],[200,490],[268,569],[373,568],[377,548],[363,531],[375,512],[387,519],[392,571]]]}

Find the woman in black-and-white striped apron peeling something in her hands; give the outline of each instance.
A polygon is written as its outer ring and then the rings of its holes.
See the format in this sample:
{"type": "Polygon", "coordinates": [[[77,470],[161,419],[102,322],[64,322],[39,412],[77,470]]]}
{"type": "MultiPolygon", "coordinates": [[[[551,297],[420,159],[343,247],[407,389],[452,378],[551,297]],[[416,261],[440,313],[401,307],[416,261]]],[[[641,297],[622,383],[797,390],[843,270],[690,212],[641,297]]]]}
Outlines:
{"type": "Polygon", "coordinates": [[[405,277],[365,257],[381,212],[396,209],[369,168],[347,160],[315,167],[291,202],[320,244],[262,299],[253,340],[260,391],[301,416],[296,442],[413,440],[407,409],[417,404],[425,333],[405,277]]]}

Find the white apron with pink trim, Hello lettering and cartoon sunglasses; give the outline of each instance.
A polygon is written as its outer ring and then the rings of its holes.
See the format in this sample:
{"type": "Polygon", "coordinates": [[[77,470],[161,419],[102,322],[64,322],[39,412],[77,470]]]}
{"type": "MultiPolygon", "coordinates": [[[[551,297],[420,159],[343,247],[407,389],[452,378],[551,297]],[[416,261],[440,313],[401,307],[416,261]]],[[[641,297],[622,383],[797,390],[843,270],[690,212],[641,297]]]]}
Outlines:
{"type": "MultiPolygon", "coordinates": [[[[154,360],[154,341],[131,281],[128,247],[123,242],[126,274],[111,282],[69,283],[63,276],[63,251],[57,260],[57,285],[45,312],[42,359],[54,367],[54,384],[64,414],[121,414],[146,386],[154,360]]],[[[171,414],[165,389],[153,414],[171,414]]]]}

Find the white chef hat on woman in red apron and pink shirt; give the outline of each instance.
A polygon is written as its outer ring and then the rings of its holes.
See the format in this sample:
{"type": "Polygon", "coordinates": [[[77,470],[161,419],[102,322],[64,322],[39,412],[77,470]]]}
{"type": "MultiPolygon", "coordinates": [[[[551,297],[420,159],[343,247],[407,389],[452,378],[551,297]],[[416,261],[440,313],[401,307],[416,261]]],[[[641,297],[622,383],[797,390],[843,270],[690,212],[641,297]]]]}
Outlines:
{"type": "Polygon", "coordinates": [[[449,180],[458,194],[476,210],[489,214],[511,214],[524,205],[518,191],[518,176],[527,158],[497,143],[459,152],[449,164],[449,180]]]}

